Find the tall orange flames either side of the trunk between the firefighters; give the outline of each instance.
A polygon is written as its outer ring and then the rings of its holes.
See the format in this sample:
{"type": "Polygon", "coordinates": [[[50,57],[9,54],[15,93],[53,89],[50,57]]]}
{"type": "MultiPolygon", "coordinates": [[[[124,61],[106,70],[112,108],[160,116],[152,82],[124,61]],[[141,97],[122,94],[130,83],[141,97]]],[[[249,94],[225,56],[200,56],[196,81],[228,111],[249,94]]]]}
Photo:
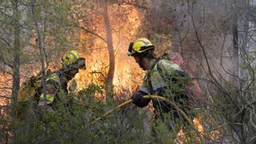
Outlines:
{"type": "MultiPolygon", "coordinates": [[[[118,91],[120,87],[133,90],[142,82],[142,70],[134,62],[133,58],[127,55],[127,48],[131,40],[134,40],[138,28],[141,24],[138,10],[134,6],[110,6],[109,8],[110,23],[113,31],[113,44],[115,51],[115,72],[114,72],[114,90],[118,91]],[[127,12],[126,20],[116,22],[117,11],[127,12]],[[119,30],[114,32],[114,30],[119,30]]],[[[98,17],[97,17],[98,18],[98,17]]],[[[94,33],[104,38],[105,27],[101,26],[103,19],[98,18],[98,25],[90,26],[94,33]]],[[[75,78],[78,82],[78,89],[84,89],[90,82],[102,84],[104,76],[107,73],[109,64],[108,51],[106,43],[101,38],[94,38],[94,35],[87,34],[83,30],[79,31],[78,48],[83,52],[86,58],[86,71],[80,71],[75,78]],[[88,46],[88,47],[86,47],[88,46]],[[90,53],[90,54],[88,54],[90,53]]]]}

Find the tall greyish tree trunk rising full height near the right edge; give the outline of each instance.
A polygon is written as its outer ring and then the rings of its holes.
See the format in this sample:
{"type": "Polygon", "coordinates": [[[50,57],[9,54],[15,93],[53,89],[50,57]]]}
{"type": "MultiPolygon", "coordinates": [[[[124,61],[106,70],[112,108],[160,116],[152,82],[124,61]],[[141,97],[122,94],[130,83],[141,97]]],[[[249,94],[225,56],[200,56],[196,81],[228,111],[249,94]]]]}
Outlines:
{"type": "MultiPolygon", "coordinates": [[[[246,6],[246,2],[240,2],[238,0],[234,0],[234,3],[231,3],[232,6],[232,34],[233,34],[233,70],[234,70],[234,74],[236,76],[238,76],[238,78],[240,78],[241,76],[241,72],[242,72],[242,68],[241,68],[241,62],[242,60],[242,54],[245,54],[246,52],[246,45],[247,45],[247,39],[248,39],[248,29],[249,29],[249,19],[246,13],[246,7],[244,7],[242,10],[239,9],[239,7],[245,5],[246,6]],[[241,11],[239,11],[241,10],[241,11]],[[241,20],[242,16],[244,16],[244,18],[241,20]],[[239,26],[240,21],[242,21],[243,25],[239,26]],[[242,33],[243,34],[238,34],[238,30],[239,28],[242,27],[242,33]],[[242,46],[239,47],[239,42],[238,40],[242,41],[242,46]]],[[[236,90],[235,92],[235,98],[236,101],[239,102],[240,105],[245,105],[244,102],[244,94],[242,94],[242,83],[240,82],[240,80],[238,78],[233,78],[233,83],[234,83],[234,88],[236,90]]],[[[239,109],[240,107],[238,107],[239,109]]],[[[236,118],[234,120],[234,130],[236,132],[237,137],[236,140],[238,142],[241,143],[246,143],[246,128],[244,125],[245,122],[245,117],[246,117],[246,110],[242,110],[242,113],[239,113],[238,118],[236,118]],[[237,124],[239,123],[239,124],[237,124]]],[[[235,135],[234,135],[235,136],[235,135]]]]}

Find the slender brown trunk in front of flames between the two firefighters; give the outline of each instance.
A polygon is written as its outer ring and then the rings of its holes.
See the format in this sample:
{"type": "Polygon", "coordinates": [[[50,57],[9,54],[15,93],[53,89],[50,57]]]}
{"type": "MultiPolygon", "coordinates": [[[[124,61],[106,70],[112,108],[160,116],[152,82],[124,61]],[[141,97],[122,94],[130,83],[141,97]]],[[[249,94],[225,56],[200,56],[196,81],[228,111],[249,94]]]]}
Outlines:
{"type": "MultiPolygon", "coordinates": [[[[108,6],[106,0],[102,1],[102,6],[103,6],[103,18],[104,18],[104,23],[106,26],[106,41],[107,41],[107,46],[109,50],[109,61],[110,61],[110,68],[107,73],[106,77],[106,94],[107,96],[110,96],[112,94],[113,90],[113,78],[114,78],[114,47],[113,47],[113,39],[112,39],[112,30],[110,26],[110,18],[108,15],[108,6]]],[[[111,96],[113,98],[113,96],[111,96]]]]}

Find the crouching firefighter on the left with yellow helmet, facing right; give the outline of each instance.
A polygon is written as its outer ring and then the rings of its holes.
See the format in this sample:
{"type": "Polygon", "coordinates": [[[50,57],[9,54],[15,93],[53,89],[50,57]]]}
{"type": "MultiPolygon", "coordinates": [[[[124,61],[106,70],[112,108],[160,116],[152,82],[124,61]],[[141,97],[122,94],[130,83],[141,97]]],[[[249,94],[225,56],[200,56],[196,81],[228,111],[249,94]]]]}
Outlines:
{"type": "MultiPolygon", "coordinates": [[[[68,93],[67,83],[78,74],[78,70],[86,70],[86,59],[82,58],[76,50],[67,51],[62,57],[62,68],[46,76],[46,94],[43,94],[42,76],[33,76],[24,82],[18,93],[18,103],[27,105],[34,101],[45,110],[54,110],[54,105],[61,102],[62,95],[68,93]]],[[[65,103],[68,105],[68,103],[65,103]]],[[[18,117],[23,119],[24,113],[18,110],[18,117]]]]}

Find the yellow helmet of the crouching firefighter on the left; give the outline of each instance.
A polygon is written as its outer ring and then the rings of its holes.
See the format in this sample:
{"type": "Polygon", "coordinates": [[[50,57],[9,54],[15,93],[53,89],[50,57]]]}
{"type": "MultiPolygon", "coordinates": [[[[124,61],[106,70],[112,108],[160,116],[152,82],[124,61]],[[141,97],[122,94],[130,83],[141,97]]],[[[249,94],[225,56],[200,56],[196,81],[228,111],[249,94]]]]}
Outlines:
{"type": "Polygon", "coordinates": [[[62,65],[65,67],[75,67],[78,69],[86,69],[85,58],[82,58],[81,55],[76,50],[70,50],[62,57],[62,65]]]}

